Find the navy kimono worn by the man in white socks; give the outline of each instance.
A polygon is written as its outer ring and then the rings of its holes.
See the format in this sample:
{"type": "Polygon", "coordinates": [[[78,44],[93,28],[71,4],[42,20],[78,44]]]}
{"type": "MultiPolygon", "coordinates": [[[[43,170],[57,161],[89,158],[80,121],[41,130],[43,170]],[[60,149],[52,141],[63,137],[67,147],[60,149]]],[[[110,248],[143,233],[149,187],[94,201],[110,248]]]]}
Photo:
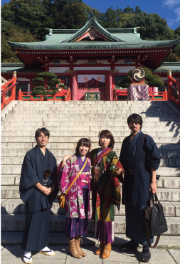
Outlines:
{"type": "Polygon", "coordinates": [[[40,250],[48,245],[51,206],[58,194],[58,188],[56,187],[50,195],[46,196],[34,186],[38,182],[43,185],[45,169],[51,169],[47,184],[49,188],[53,182],[57,182],[56,159],[48,149],[43,155],[36,145],[24,157],[19,186],[21,199],[26,206],[26,223],[21,247],[26,251],[40,250]]]}

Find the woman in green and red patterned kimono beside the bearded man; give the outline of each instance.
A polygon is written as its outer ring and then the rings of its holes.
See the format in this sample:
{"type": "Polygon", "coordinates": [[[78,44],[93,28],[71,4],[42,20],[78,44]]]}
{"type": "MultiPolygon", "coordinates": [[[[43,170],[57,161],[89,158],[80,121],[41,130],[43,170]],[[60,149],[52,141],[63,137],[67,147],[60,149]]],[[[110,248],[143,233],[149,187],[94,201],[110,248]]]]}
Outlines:
{"type": "Polygon", "coordinates": [[[108,130],[100,132],[100,148],[90,152],[92,161],[92,219],[95,220],[95,237],[100,247],[95,252],[109,258],[114,241],[115,208],[120,210],[120,181],[122,164],[112,150],[115,139],[108,130]]]}

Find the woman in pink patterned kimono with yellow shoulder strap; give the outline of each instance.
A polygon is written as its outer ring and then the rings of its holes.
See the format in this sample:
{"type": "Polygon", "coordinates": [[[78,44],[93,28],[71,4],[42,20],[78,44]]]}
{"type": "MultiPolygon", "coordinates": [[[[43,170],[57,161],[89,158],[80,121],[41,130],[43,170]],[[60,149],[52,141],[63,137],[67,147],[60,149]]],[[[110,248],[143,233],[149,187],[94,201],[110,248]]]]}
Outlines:
{"type": "Polygon", "coordinates": [[[63,162],[58,167],[59,181],[58,185],[63,193],[68,190],[73,179],[82,169],[83,164],[86,163],[83,171],[78,179],[76,179],[73,186],[65,195],[65,235],[69,238],[68,250],[74,258],[85,257],[85,253],[80,248],[81,236],[88,233],[88,219],[90,215],[90,159],[86,155],[90,151],[90,140],[82,138],[79,140],[75,149],[75,155],[66,160],[63,167],[63,162]],[[60,176],[60,169],[63,168],[62,176],[60,176]]]}

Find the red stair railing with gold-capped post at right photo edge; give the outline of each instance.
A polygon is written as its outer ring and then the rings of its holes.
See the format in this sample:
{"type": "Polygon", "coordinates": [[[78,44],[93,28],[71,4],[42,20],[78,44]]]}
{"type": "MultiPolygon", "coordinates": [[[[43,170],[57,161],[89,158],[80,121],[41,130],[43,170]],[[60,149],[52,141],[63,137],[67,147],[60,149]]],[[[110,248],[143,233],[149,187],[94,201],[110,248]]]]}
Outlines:
{"type": "Polygon", "coordinates": [[[171,70],[169,70],[166,83],[168,85],[168,99],[180,107],[180,83],[172,78],[171,70]]]}

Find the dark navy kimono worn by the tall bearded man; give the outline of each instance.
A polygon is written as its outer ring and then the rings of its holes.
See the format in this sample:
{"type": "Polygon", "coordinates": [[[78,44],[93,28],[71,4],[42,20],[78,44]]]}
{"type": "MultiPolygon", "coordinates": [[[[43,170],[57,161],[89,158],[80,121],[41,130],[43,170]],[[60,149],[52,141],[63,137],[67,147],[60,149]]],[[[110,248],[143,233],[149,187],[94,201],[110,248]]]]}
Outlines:
{"type": "MultiPolygon", "coordinates": [[[[122,142],[120,162],[125,169],[122,184],[122,204],[126,211],[126,236],[137,243],[147,245],[144,233],[144,207],[149,200],[149,184],[152,181],[151,167],[158,169],[160,163],[157,144],[142,131],[134,137],[131,135],[122,142]],[[133,169],[130,175],[128,169],[133,169]]],[[[151,239],[153,243],[153,238],[151,239]]]]}

